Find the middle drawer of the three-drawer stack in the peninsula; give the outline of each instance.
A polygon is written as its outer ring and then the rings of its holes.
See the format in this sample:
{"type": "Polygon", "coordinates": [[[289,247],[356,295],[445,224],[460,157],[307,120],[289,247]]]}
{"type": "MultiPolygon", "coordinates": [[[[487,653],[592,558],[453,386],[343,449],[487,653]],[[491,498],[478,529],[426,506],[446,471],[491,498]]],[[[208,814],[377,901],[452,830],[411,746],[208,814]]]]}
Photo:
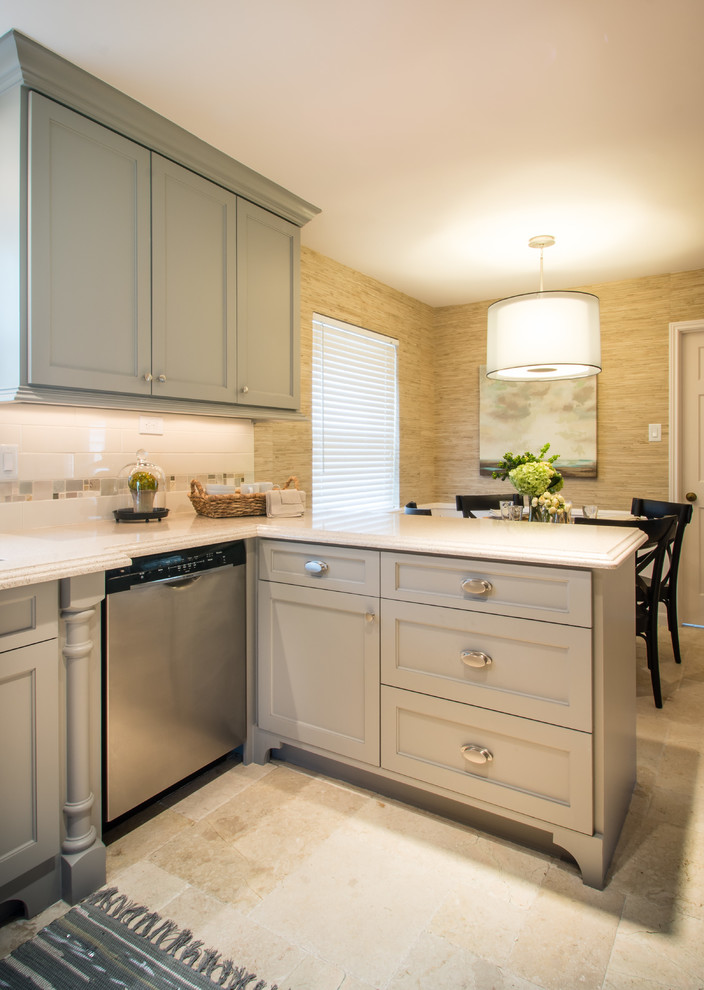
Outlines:
{"type": "Polygon", "coordinates": [[[591,632],[382,600],[381,678],[392,687],[591,731],[591,632]]]}

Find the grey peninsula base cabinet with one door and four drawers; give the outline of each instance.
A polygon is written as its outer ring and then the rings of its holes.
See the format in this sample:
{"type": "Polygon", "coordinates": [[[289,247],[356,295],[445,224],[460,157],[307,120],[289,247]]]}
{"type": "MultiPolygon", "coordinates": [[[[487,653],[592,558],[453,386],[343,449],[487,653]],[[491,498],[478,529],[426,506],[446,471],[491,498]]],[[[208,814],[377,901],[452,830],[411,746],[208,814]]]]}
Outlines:
{"type": "Polygon", "coordinates": [[[294,746],[303,763],[329,756],[351,779],[357,767],[366,786],[396,781],[474,809],[482,828],[488,815],[502,834],[538,830],[603,886],[635,783],[632,562],[586,570],[267,540],[259,577],[255,759],[294,746]],[[362,583],[376,555],[378,600],[362,583]],[[347,557],[363,571],[345,575],[347,557]],[[366,694],[371,615],[380,665],[366,694]],[[348,741],[362,712],[360,753],[348,741]]]}

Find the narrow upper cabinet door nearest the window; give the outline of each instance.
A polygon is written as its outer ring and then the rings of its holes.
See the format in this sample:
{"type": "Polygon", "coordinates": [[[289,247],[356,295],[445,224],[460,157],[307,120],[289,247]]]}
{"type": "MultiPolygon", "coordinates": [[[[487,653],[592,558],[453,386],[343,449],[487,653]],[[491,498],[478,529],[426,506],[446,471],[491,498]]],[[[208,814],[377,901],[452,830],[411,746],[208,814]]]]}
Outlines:
{"type": "Polygon", "coordinates": [[[237,400],[300,405],[300,229],[237,203],[237,400]]]}

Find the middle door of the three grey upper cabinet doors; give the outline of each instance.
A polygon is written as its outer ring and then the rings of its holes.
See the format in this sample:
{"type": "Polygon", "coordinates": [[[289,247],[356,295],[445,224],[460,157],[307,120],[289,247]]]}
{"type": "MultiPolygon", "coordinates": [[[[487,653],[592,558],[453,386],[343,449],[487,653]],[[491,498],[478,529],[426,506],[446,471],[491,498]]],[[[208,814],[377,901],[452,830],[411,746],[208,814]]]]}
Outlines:
{"type": "Polygon", "coordinates": [[[236,401],[237,197],[152,155],[152,394],[236,401]]]}

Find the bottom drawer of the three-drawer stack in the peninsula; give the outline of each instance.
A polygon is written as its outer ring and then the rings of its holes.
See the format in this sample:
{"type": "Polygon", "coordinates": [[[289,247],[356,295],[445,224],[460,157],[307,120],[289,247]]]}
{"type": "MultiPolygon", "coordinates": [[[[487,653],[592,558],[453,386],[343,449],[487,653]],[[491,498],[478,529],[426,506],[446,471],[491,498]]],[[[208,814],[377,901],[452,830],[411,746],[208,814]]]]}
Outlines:
{"type": "Polygon", "coordinates": [[[389,687],[381,725],[384,769],[591,835],[588,733],[389,687]],[[467,746],[488,761],[471,762],[467,746]]]}

